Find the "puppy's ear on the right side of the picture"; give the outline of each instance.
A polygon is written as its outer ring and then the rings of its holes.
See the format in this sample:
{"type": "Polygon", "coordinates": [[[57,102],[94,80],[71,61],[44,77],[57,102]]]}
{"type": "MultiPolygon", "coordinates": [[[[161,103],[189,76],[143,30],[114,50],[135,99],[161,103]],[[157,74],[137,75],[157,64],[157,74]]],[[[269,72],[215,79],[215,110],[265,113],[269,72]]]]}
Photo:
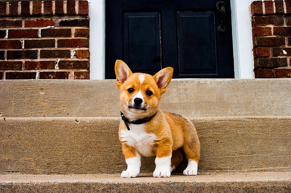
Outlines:
{"type": "Polygon", "coordinates": [[[161,89],[162,94],[167,90],[167,87],[172,79],[173,72],[174,69],[172,67],[167,67],[160,70],[157,74],[153,76],[159,89],[161,89]]]}

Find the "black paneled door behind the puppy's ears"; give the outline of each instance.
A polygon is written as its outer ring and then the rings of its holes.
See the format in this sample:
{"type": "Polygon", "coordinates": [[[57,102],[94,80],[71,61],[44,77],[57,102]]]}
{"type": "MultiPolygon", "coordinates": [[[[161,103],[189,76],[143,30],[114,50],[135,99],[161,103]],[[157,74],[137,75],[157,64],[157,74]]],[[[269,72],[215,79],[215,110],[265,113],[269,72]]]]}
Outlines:
{"type": "Polygon", "coordinates": [[[230,0],[105,0],[105,70],[174,68],[174,78],[233,78],[230,0]]]}

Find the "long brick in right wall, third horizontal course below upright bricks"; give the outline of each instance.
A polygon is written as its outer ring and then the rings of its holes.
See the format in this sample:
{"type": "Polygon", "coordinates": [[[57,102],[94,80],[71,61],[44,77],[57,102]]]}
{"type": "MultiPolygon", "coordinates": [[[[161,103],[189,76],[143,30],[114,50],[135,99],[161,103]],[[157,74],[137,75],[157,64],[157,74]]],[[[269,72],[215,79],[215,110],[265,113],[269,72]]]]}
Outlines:
{"type": "Polygon", "coordinates": [[[255,46],[280,46],[285,45],[284,37],[255,37],[253,39],[255,46]]]}

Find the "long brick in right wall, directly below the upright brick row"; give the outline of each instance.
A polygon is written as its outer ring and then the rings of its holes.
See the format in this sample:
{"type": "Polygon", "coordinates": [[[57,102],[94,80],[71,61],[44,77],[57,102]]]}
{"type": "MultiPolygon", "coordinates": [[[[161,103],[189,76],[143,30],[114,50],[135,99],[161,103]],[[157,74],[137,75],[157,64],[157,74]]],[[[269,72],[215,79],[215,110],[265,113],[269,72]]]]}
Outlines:
{"type": "Polygon", "coordinates": [[[252,18],[253,26],[265,26],[265,25],[284,25],[284,18],[282,15],[266,15],[266,16],[254,16],[252,18]]]}

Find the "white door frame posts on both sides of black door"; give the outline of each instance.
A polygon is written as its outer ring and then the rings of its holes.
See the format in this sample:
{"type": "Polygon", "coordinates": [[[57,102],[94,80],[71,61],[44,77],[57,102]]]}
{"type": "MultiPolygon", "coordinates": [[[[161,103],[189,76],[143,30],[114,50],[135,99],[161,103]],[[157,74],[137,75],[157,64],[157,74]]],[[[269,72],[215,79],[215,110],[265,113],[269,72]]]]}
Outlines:
{"type": "MultiPolygon", "coordinates": [[[[90,79],[105,79],[105,0],[88,0],[90,16],[90,79]]],[[[254,78],[250,4],[230,0],[235,78],[254,78]]]]}

